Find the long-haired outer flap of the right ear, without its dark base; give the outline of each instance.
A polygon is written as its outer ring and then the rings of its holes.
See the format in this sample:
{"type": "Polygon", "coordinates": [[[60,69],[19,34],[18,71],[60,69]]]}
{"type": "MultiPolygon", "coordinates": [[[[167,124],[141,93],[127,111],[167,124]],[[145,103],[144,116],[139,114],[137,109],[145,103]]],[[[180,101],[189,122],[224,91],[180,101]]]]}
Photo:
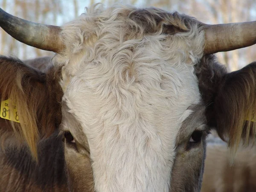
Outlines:
{"type": "Polygon", "coordinates": [[[224,76],[215,98],[218,134],[229,138],[229,146],[237,148],[241,140],[247,145],[256,134],[256,123],[250,121],[255,112],[256,62],[224,76]]]}

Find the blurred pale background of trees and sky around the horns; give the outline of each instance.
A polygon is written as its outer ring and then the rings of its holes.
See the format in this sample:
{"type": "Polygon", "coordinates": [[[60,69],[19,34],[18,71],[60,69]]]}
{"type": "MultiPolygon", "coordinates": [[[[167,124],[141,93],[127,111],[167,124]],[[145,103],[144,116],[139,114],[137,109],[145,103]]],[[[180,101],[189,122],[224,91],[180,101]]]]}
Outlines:
{"type": "MultiPolygon", "coordinates": [[[[132,4],[137,7],[155,6],[168,11],[178,11],[208,23],[233,23],[256,20],[256,0],[0,0],[6,12],[37,23],[62,25],[81,15],[84,7],[101,2],[132,4]]],[[[13,39],[0,29],[0,54],[16,55],[20,59],[53,55],[13,39]]],[[[256,60],[256,46],[231,52],[218,53],[218,59],[228,70],[238,70],[256,60]]]]}

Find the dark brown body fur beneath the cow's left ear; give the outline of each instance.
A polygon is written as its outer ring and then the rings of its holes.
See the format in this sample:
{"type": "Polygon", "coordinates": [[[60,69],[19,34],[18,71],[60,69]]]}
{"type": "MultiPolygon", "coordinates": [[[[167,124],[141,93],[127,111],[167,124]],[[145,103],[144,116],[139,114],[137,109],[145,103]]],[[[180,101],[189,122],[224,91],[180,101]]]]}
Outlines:
{"type": "MultiPolygon", "coordinates": [[[[5,121],[0,119],[0,121],[5,121]]],[[[38,145],[38,162],[15,141],[0,148],[0,192],[66,192],[64,149],[58,133],[38,145]]]]}

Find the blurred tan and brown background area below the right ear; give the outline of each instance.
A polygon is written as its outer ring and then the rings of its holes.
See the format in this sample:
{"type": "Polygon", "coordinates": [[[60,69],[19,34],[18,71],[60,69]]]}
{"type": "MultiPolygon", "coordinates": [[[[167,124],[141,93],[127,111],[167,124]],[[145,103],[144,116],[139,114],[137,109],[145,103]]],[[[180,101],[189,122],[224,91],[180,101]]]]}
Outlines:
{"type": "Polygon", "coordinates": [[[239,148],[232,157],[226,143],[215,137],[207,141],[201,192],[255,192],[255,146],[239,148]]]}

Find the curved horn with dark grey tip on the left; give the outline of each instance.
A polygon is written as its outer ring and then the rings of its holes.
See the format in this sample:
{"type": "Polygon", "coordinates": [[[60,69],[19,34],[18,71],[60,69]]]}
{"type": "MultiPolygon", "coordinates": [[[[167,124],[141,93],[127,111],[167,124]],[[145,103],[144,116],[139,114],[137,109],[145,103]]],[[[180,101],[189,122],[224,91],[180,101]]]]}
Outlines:
{"type": "Polygon", "coordinates": [[[42,25],[20,19],[0,9],[0,26],[16,40],[47,51],[60,52],[64,48],[61,27],[42,25]]]}

